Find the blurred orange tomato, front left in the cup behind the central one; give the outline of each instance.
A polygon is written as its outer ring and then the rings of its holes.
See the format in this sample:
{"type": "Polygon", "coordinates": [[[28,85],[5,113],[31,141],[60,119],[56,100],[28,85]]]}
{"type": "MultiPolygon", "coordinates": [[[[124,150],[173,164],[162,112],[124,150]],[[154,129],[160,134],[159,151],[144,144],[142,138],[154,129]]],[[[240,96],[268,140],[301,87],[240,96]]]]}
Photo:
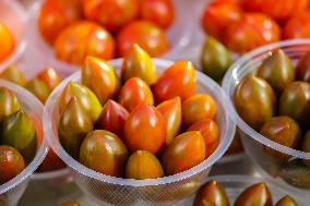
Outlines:
{"type": "Polygon", "coordinates": [[[82,64],[87,56],[109,60],[114,58],[112,36],[102,26],[83,21],[62,31],[55,41],[58,59],[82,64]]]}

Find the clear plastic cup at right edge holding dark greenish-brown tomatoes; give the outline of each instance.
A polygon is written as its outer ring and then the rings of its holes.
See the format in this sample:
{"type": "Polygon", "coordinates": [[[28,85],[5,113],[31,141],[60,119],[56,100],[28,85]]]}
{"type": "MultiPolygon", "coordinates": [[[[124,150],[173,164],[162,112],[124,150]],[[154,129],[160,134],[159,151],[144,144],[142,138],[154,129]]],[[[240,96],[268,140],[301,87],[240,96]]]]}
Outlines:
{"type": "MultiPolygon", "coordinates": [[[[303,153],[297,149],[288,148],[277,144],[248,125],[238,114],[234,104],[234,93],[239,82],[249,73],[255,72],[255,69],[262,61],[271,54],[272,50],[282,49],[288,54],[296,65],[297,60],[308,50],[310,50],[310,39],[286,40],[276,44],[266,45],[255,49],[231,65],[223,81],[223,88],[227,93],[229,99],[227,108],[230,117],[242,131],[241,140],[245,150],[253,160],[263,174],[273,180],[285,182],[302,187],[300,192],[309,194],[310,191],[310,168],[303,161],[310,159],[310,153],[303,153]],[[272,148],[282,154],[286,154],[288,158],[279,158],[269,155],[263,148],[272,148]]],[[[287,185],[287,184],[285,184],[287,185]]]]}

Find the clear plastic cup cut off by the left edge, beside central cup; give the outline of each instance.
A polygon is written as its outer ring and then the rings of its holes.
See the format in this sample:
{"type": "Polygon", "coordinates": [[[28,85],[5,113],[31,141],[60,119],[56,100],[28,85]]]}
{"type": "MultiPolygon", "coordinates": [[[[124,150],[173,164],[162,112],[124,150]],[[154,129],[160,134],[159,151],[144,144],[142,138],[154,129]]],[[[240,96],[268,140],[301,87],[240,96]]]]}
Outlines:
{"type": "Polygon", "coordinates": [[[44,107],[35,96],[15,84],[0,80],[0,87],[7,87],[16,95],[22,108],[33,120],[37,134],[36,137],[38,147],[34,160],[19,175],[0,185],[0,205],[14,206],[17,204],[17,201],[24,193],[31,174],[40,165],[48,150],[48,144],[44,138],[41,125],[44,107]]]}

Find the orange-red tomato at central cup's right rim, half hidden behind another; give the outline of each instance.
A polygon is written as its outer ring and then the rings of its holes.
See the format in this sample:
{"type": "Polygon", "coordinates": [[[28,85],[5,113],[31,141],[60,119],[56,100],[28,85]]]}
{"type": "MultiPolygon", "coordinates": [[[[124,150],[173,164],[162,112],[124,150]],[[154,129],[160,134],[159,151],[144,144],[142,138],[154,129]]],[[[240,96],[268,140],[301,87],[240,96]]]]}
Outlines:
{"type": "Polygon", "coordinates": [[[205,142],[205,156],[211,156],[219,144],[219,130],[217,123],[212,119],[205,119],[193,123],[188,131],[199,131],[205,142]]]}

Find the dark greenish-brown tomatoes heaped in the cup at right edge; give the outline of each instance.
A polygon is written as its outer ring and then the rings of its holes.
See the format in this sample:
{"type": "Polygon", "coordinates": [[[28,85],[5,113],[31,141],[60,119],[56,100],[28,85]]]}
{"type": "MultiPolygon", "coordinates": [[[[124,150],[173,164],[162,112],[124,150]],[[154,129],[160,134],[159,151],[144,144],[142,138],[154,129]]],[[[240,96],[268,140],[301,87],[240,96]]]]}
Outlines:
{"type": "MultiPolygon", "coordinates": [[[[234,100],[240,117],[266,138],[284,146],[310,152],[310,51],[295,68],[281,49],[270,54],[237,86],[234,100]]],[[[265,148],[277,159],[288,155],[265,148]]],[[[305,160],[309,166],[309,160],[305,160]]]]}

